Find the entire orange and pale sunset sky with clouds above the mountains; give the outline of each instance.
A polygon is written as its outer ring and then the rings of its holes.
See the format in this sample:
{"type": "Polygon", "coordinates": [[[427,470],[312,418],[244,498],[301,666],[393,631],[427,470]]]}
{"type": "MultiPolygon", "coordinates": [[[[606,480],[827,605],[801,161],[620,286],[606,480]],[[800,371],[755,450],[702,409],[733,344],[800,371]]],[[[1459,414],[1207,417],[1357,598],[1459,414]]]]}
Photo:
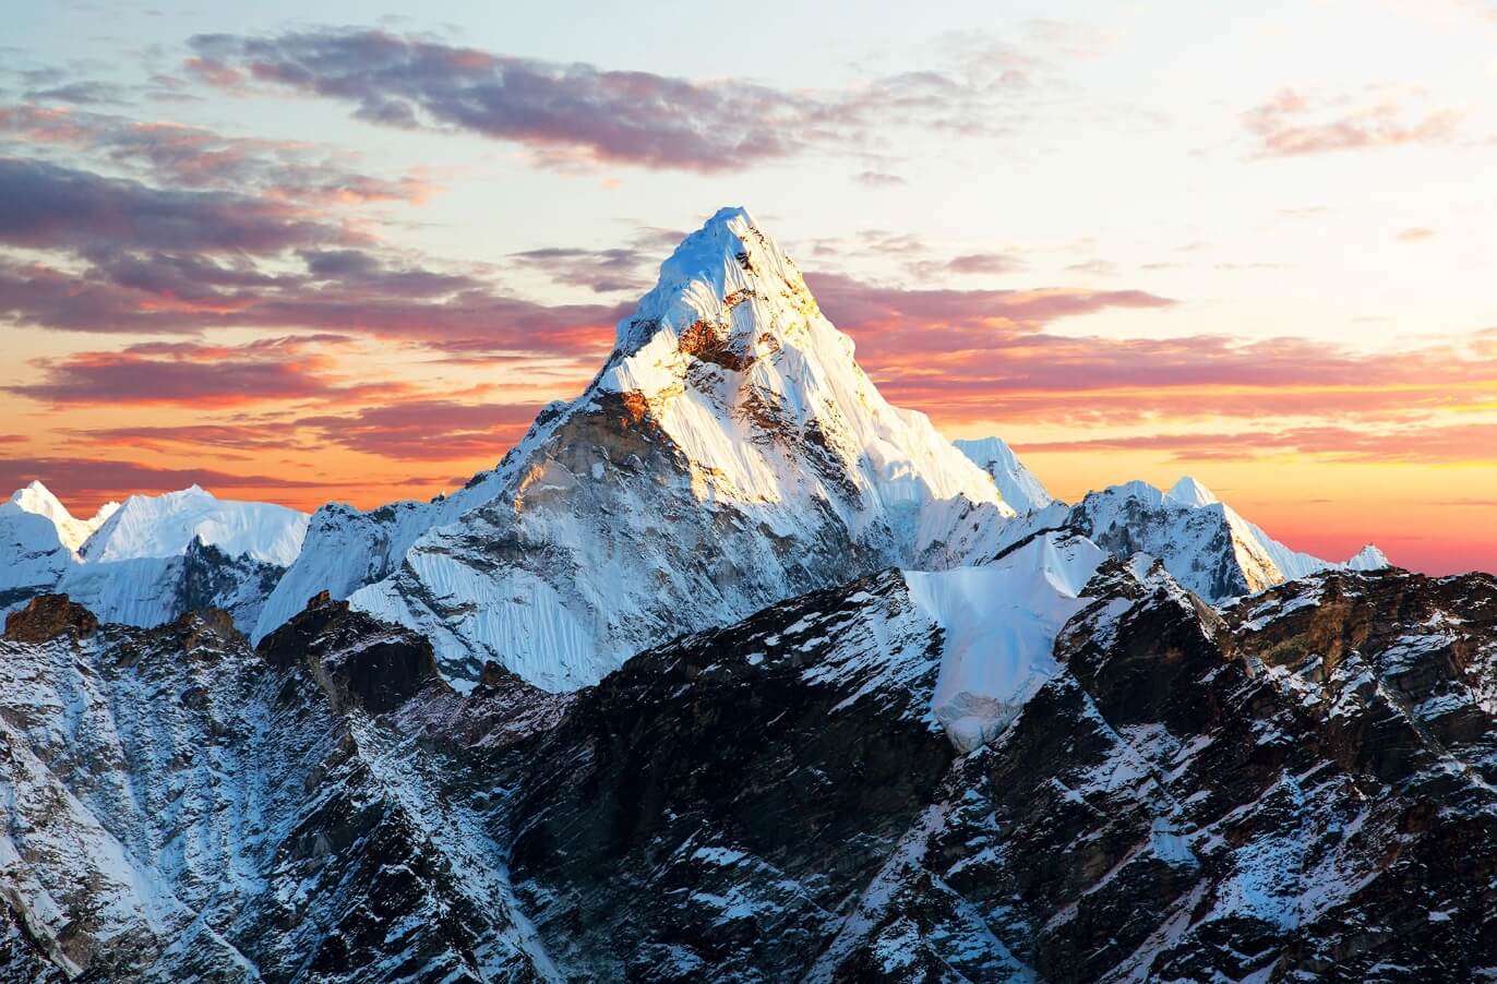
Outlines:
{"type": "Polygon", "coordinates": [[[1497,0],[199,6],[7,12],[6,490],[452,488],[732,204],[1064,499],[1497,571],[1497,0]]]}

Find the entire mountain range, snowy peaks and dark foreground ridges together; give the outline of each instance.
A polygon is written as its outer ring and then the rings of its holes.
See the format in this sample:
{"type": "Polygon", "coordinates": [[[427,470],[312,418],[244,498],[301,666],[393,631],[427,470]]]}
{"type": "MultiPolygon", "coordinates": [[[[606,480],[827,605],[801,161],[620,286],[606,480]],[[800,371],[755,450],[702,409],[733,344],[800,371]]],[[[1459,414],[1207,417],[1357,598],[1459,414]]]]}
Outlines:
{"type": "Polygon", "coordinates": [[[1445,860],[1497,845],[1493,578],[1190,478],[1055,500],[885,401],[741,208],[452,494],[33,482],[0,556],[4,980],[1497,962],[1445,860]]]}

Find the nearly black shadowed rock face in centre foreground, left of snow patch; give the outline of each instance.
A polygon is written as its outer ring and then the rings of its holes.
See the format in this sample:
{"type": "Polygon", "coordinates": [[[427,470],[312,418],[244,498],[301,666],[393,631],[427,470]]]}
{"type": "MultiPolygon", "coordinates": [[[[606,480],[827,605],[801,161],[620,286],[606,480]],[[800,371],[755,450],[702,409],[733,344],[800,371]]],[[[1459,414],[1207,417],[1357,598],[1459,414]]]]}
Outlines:
{"type": "Polygon", "coordinates": [[[636,656],[539,741],[510,875],[579,980],[789,980],[952,761],[897,572],[636,656]],[[883,640],[888,649],[880,647],[883,640]]]}

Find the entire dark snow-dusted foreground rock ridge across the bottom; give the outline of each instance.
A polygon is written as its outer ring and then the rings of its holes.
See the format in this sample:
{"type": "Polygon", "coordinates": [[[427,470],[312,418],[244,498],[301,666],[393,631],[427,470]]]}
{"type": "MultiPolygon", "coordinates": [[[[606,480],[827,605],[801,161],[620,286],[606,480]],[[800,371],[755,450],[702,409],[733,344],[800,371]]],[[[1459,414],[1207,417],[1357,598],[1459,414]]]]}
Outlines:
{"type": "Polygon", "coordinates": [[[1469,980],[1497,581],[1106,562],[985,747],[885,572],[546,693],[314,599],[0,643],[0,977],[1469,980]]]}

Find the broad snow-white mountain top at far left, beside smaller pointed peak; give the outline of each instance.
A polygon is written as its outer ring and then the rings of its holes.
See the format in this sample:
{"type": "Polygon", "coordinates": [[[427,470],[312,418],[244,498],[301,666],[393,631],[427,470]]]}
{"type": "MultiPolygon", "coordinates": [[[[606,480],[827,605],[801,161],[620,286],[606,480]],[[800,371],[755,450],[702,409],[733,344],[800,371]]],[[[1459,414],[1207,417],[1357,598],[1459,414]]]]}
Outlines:
{"type": "Polygon", "coordinates": [[[289,565],[301,551],[307,514],[268,502],[216,499],[193,485],[163,496],[130,496],[79,551],[85,560],[178,557],[201,539],[231,557],[289,565]]]}

